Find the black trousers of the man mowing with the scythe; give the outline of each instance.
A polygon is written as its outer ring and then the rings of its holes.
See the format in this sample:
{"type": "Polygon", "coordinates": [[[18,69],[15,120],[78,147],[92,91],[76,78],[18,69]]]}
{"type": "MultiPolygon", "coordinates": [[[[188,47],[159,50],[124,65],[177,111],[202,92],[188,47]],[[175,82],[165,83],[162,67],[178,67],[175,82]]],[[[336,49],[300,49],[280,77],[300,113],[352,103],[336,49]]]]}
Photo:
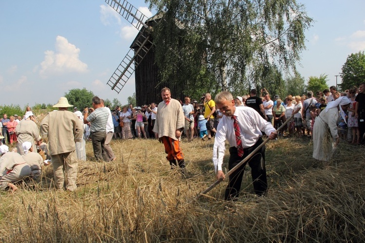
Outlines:
{"type": "MultiPolygon", "coordinates": [[[[237,148],[231,147],[229,149],[230,157],[228,162],[228,168],[231,170],[239,162],[247,157],[253,150],[255,150],[263,142],[262,138],[259,138],[256,144],[250,148],[244,149],[244,154],[239,157],[237,154],[237,148]]],[[[247,163],[247,162],[246,162],[247,163]]],[[[251,167],[252,181],[254,185],[255,193],[259,196],[265,195],[267,191],[267,179],[265,168],[265,146],[262,146],[249,160],[248,165],[251,167]]],[[[245,171],[245,165],[242,165],[235,172],[229,176],[229,183],[225,191],[224,199],[232,200],[237,197],[241,189],[242,176],[245,171]]]]}

